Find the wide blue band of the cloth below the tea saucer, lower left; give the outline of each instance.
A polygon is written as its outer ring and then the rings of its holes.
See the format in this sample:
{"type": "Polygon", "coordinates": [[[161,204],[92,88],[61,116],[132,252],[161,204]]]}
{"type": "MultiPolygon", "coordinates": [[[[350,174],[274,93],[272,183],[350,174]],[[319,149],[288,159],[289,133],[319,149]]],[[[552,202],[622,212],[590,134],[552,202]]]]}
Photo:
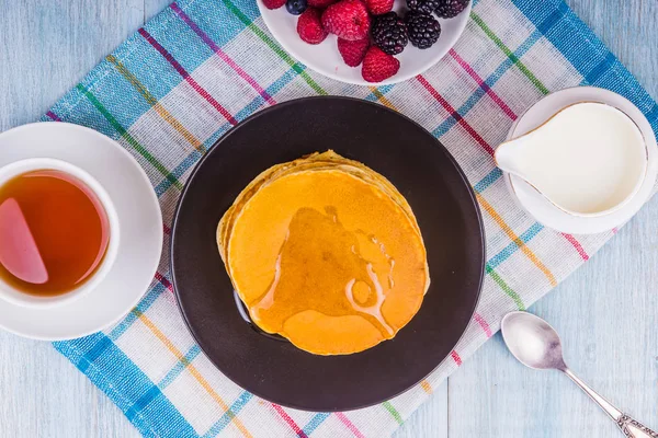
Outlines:
{"type": "Polygon", "coordinates": [[[197,437],[175,406],[158,396],[154,382],[102,333],[54,343],[55,348],[107,394],[145,437],[197,437]],[[102,345],[102,348],[98,348],[102,345]],[[99,354],[100,351],[100,354],[99,354]],[[148,395],[147,395],[148,394],[148,395]],[[150,399],[150,403],[147,400],[150,399]],[[131,411],[132,410],[132,411],[131,411]]]}

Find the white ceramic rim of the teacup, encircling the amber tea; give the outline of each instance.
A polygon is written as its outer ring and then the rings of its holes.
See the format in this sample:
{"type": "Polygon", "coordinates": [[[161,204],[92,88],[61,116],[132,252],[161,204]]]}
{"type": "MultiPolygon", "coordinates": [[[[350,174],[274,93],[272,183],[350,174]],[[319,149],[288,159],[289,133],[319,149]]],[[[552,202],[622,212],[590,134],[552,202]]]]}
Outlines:
{"type": "Polygon", "coordinates": [[[114,264],[114,261],[116,258],[120,241],[120,229],[118,217],[116,215],[114,204],[112,203],[110,195],[107,195],[107,192],[105,192],[103,186],[89,173],[78,168],[77,165],[68,163],[66,161],[56,160],[52,158],[31,158],[13,162],[3,168],[0,168],[0,187],[3,184],[5,184],[9,180],[15,176],[38,170],[60,171],[81,181],[95,194],[101,205],[103,206],[103,209],[105,210],[105,214],[107,216],[107,223],[110,229],[107,247],[105,250],[105,255],[103,256],[101,264],[95,269],[95,273],[76,289],[57,296],[43,297],[25,293],[9,285],[7,281],[2,280],[2,278],[0,278],[0,299],[23,307],[47,308],[60,306],[66,302],[76,300],[86,295],[87,292],[91,291],[103,280],[107,272],[110,272],[110,269],[112,268],[112,265],[114,264]]]}

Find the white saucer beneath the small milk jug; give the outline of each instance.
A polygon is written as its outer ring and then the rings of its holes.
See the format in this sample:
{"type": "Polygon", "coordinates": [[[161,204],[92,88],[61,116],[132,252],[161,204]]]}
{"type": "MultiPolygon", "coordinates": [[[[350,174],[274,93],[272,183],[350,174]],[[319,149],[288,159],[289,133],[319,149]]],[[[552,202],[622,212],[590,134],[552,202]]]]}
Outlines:
{"type": "Polygon", "coordinates": [[[565,89],[547,95],[531,106],[512,125],[507,139],[529,132],[544,124],[558,111],[579,102],[600,102],[614,106],[629,116],[642,130],[647,145],[648,166],[645,182],[637,194],[623,208],[610,215],[577,217],[554,206],[524,180],[508,173],[503,177],[510,194],[544,226],[569,234],[594,234],[612,230],[628,221],[651,196],[658,175],[658,151],[656,136],[644,114],[631,101],[612,91],[594,87],[565,89]]]}

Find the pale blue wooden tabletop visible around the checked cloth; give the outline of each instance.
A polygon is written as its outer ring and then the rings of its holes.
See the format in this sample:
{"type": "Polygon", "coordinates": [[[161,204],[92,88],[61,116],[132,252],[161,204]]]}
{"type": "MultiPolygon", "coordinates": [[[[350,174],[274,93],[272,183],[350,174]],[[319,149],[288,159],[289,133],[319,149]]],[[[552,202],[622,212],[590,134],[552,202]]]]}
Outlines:
{"type": "MultiPolygon", "coordinates": [[[[569,0],[658,97],[658,2],[569,0]]],[[[0,0],[0,131],[35,120],[168,0],[0,0]]],[[[561,334],[570,366],[658,429],[658,201],[531,310],[561,334]]],[[[137,437],[112,402],[47,343],[0,332],[0,437],[137,437]]],[[[619,437],[556,372],[489,341],[396,434],[619,437]]]]}

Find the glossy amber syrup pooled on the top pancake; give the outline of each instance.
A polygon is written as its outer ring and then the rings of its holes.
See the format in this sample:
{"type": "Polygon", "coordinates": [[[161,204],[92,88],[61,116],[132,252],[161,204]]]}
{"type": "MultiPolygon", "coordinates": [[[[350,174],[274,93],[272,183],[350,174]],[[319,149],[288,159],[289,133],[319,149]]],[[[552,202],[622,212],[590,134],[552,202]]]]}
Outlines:
{"type": "Polygon", "coordinates": [[[248,303],[257,320],[284,331],[295,314],[315,310],[329,316],[359,315],[390,338],[382,306],[393,287],[395,261],[384,243],[363,231],[347,230],[336,208],[325,212],[299,208],[276,258],[274,278],[263,295],[248,303]],[[365,260],[361,245],[375,245],[382,255],[365,260]]]}

